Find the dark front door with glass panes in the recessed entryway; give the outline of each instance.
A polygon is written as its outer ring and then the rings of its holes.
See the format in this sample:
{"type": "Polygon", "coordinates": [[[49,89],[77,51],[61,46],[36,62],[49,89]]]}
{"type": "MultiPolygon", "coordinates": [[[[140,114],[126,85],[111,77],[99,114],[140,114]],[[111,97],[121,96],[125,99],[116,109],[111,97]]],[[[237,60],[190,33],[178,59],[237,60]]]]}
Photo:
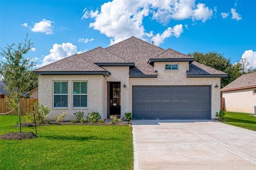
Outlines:
{"type": "Polygon", "coordinates": [[[121,115],[121,83],[109,82],[109,115],[121,115]]]}

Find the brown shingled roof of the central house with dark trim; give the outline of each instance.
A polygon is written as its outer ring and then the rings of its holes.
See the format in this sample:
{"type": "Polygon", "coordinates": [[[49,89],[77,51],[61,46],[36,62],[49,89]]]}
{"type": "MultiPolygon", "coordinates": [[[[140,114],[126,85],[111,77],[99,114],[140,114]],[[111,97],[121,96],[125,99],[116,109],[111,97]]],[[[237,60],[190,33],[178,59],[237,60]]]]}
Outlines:
{"type": "MultiPolygon", "coordinates": [[[[85,53],[63,58],[57,62],[40,67],[35,72],[39,74],[105,73],[105,75],[108,75],[110,73],[101,66],[126,65],[130,66],[130,77],[156,77],[157,73],[152,63],[154,63],[154,60],[163,58],[165,60],[174,59],[175,61],[186,60],[190,63],[194,61],[193,57],[170,48],[165,50],[132,36],[107,48],[97,47],[85,53]]],[[[203,66],[197,65],[195,67],[190,64],[190,67],[194,69],[191,74],[201,73],[202,70],[205,70],[203,66]]],[[[211,68],[206,69],[206,72],[207,74],[218,72],[218,74],[226,75],[226,73],[211,68]]]]}

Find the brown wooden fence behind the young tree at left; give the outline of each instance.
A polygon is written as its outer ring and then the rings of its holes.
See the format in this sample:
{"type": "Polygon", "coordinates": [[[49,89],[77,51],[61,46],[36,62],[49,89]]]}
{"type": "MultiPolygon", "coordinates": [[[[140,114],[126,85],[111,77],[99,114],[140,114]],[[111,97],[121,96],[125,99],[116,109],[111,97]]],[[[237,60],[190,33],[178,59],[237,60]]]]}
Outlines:
{"type": "MultiPolygon", "coordinates": [[[[26,113],[28,113],[29,109],[31,108],[31,106],[34,106],[34,103],[36,101],[37,101],[37,99],[23,99],[20,103],[21,114],[25,115],[26,113]]],[[[8,108],[8,103],[7,103],[6,99],[0,99],[0,113],[7,113],[11,110],[12,109],[8,108]]],[[[18,111],[18,107],[17,107],[17,109],[15,109],[11,113],[9,113],[9,115],[17,114],[18,113],[17,111],[18,111]]]]}

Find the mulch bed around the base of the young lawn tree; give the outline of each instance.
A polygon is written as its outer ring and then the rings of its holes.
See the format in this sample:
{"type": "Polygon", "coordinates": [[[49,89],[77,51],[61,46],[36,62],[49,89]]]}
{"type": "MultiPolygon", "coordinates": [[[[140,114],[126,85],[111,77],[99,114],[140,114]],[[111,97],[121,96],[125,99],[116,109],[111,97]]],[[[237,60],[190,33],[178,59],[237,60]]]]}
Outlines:
{"type": "Polygon", "coordinates": [[[21,140],[21,139],[31,139],[37,138],[37,136],[33,132],[12,132],[12,133],[5,133],[0,136],[0,139],[6,140],[21,140]]]}

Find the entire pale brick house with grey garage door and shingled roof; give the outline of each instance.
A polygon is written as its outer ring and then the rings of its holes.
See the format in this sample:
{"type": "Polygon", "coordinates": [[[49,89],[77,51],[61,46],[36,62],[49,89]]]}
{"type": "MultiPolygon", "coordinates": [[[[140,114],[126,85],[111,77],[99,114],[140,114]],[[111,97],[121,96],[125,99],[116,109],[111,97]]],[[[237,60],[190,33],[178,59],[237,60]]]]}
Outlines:
{"type": "Polygon", "coordinates": [[[102,118],[132,112],[137,119],[211,119],[220,110],[226,73],[134,36],[74,54],[35,70],[38,101],[49,118],[96,111],[102,118]]]}

